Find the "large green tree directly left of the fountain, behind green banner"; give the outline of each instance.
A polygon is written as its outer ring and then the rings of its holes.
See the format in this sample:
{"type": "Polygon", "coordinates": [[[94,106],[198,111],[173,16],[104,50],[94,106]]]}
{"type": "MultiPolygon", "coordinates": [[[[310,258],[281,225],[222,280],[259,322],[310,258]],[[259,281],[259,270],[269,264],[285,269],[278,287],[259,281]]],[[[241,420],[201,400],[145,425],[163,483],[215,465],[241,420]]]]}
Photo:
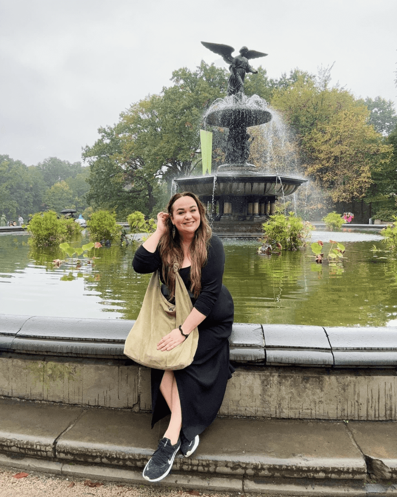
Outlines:
{"type": "Polygon", "coordinates": [[[152,212],[160,180],[187,175],[200,162],[199,127],[205,109],[227,86],[227,71],[201,62],[174,71],[173,85],[132,104],[113,127],[85,147],[91,175],[88,200],[124,215],[152,212]]]}

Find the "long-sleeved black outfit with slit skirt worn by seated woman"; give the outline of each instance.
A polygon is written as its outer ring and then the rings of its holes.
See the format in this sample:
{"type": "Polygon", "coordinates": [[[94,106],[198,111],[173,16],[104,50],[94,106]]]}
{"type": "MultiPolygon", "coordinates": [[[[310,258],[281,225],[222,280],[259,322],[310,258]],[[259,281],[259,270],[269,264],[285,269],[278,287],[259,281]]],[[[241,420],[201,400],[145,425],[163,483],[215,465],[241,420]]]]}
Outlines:
{"type": "MultiPolygon", "coordinates": [[[[222,284],[225,252],[221,240],[212,235],[207,263],[201,269],[201,293],[193,306],[206,316],[199,324],[199,344],[192,364],[174,371],[182,409],[182,430],[193,440],[215,419],[225,395],[227,380],[234,368],[229,363],[229,336],[232,332],[234,306],[227,288],[222,284]]],[[[158,250],[149,252],[140,246],[134,255],[133,268],[138,273],[151,273],[162,262],[158,250]]],[[[190,267],[179,270],[185,286],[190,290],[190,267]]],[[[189,338],[187,338],[189,340],[189,338]]],[[[170,413],[160,383],[164,371],[151,369],[152,428],[170,413]]]]}

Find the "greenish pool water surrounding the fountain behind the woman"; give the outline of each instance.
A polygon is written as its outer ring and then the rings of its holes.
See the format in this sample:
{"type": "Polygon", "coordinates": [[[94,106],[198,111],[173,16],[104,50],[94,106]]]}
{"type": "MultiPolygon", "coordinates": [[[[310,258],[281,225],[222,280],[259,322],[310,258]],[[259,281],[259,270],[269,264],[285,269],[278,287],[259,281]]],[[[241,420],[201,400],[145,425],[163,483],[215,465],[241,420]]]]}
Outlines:
{"type": "MultiPolygon", "coordinates": [[[[27,239],[0,234],[0,314],[136,319],[150,278],[132,269],[136,245],[100,248],[94,264],[80,257],[80,267],[69,259],[57,268],[61,252],[34,251],[27,239]]],[[[324,242],[325,256],[330,239],[343,243],[342,262],[316,264],[310,247],[267,256],[256,241],[223,240],[235,322],[397,326],[397,260],[371,251],[384,248],[382,237],[345,230],[312,239],[324,242]]]]}

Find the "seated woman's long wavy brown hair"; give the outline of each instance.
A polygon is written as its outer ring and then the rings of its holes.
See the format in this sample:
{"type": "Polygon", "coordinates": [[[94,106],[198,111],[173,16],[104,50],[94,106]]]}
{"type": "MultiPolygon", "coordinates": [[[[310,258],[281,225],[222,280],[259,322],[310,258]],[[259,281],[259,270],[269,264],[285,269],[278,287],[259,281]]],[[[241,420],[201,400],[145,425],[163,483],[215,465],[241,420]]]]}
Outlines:
{"type": "Polygon", "coordinates": [[[175,201],[181,197],[192,197],[197,203],[200,214],[200,225],[196,230],[195,238],[189,247],[189,255],[192,261],[190,268],[190,280],[192,285],[190,290],[194,294],[195,298],[197,298],[201,291],[201,268],[207,262],[208,245],[209,239],[212,235],[212,230],[205,216],[205,209],[200,202],[199,197],[190,191],[176,193],[173,197],[171,197],[167,205],[170,217],[168,217],[165,221],[165,231],[158,246],[161,260],[163,262],[163,279],[168,286],[170,298],[172,298],[175,295],[175,273],[171,270],[171,267],[174,262],[177,262],[179,267],[182,267],[184,259],[181,238],[178,230],[175,230],[175,237],[172,236],[174,225],[171,221],[171,216],[173,216],[173,205],[175,201]]]}

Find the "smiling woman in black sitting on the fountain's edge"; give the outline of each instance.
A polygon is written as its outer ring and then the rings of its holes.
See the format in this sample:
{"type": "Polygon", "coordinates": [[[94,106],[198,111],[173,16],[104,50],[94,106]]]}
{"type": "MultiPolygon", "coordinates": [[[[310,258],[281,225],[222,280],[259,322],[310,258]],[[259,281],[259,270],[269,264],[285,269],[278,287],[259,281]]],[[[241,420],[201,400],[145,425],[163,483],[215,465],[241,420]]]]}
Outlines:
{"type": "Polygon", "coordinates": [[[188,367],[176,371],[151,370],[152,427],[171,412],[157,450],[146,464],[149,482],[165,478],[179,449],[189,457],[199,445],[199,434],[215,419],[226,383],[234,369],[229,363],[228,337],[233,324],[233,300],[222,285],[225,255],[222,242],[212,235],[199,198],[191,192],[175,194],[168,212],[157,215],[156,231],[136,250],[133,268],[139,273],[159,269],[168,289],[175,292],[173,263],[190,292],[193,309],[184,323],[162,337],[157,349],[167,353],[198,327],[199,344],[188,367]]]}

